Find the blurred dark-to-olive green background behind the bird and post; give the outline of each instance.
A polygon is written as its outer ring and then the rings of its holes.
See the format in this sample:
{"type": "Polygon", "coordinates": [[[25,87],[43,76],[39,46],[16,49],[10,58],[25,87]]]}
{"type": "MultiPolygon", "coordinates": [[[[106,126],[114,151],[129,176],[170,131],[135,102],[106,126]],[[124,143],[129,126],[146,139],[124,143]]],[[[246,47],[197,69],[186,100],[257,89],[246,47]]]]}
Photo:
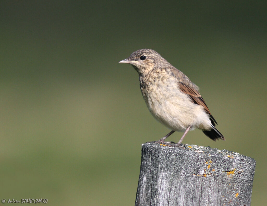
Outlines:
{"type": "Polygon", "coordinates": [[[141,144],[169,129],[118,62],[151,48],[201,88],[226,138],[195,130],[183,143],[256,159],[252,205],[264,205],[266,11],[265,1],[1,1],[0,199],[133,205],[141,144]]]}

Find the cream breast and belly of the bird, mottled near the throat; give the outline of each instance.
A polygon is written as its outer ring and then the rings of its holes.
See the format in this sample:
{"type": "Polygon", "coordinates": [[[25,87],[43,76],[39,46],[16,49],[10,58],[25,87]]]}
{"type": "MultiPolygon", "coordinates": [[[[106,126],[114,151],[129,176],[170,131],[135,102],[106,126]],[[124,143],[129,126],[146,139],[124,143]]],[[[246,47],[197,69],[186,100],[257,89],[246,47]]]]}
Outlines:
{"type": "Polygon", "coordinates": [[[209,121],[203,108],[180,90],[176,78],[172,75],[155,77],[140,78],[140,89],[148,109],[160,123],[175,131],[183,131],[188,126],[199,127],[202,119],[209,121]]]}

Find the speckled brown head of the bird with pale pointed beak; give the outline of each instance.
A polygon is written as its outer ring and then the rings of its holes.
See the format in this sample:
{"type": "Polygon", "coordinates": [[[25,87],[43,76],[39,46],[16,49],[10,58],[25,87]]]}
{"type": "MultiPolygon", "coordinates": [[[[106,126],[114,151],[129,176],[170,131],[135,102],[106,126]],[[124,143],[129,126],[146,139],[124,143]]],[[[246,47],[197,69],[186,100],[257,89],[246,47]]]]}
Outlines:
{"type": "Polygon", "coordinates": [[[119,63],[131,64],[139,74],[146,74],[164,62],[167,61],[158,52],[152,49],[140,49],[119,63]]]}

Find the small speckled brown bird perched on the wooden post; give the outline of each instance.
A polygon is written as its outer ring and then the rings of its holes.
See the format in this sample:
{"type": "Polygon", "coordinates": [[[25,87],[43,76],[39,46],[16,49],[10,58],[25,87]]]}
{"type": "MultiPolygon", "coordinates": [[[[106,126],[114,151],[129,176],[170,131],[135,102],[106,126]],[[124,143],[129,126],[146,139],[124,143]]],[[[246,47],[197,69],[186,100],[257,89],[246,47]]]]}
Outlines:
{"type": "Polygon", "coordinates": [[[119,63],[131,64],[139,74],[140,89],[147,108],[156,120],[171,129],[155,143],[166,143],[165,139],[175,131],[184,132],[179,147],[188,131],[198,128],[210,139],[225,140],[215,128],[217,124],[199,87],[152,49],[140,49],[119,63]]]}

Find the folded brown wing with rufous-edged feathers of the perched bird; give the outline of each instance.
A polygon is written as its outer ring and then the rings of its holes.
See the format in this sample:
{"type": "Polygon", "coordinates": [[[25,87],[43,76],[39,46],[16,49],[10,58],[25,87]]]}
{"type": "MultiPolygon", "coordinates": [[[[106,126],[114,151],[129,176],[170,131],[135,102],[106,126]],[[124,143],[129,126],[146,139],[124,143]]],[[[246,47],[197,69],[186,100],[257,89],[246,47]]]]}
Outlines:
{"type": "Polygon", "coordinates": [[[207,114],[210,115],[210,119],[211,119],[211,123],[215,126],[214,122],[217,124],[216,120],[213,118],[213,116],[210,113],[209,108],[207,107],[205,101],[203,100],[203,98],[201,97],[200,93],[198,92],[198,87],[197,85],[195,85],[194,83],[192,83],[189,78],[184,75],[181,71],[179,71],[176,68],[172,68],[171,72],[173,73],[173,75],[179,79],[179,87],[182,90],[182,92],[186,93],[192,102],[194,102],[195,104],[201,105],[203,106],[205,112],[207,112],[207,114]],[[214,122],[213,122],[213,121],[214,122]]]}

